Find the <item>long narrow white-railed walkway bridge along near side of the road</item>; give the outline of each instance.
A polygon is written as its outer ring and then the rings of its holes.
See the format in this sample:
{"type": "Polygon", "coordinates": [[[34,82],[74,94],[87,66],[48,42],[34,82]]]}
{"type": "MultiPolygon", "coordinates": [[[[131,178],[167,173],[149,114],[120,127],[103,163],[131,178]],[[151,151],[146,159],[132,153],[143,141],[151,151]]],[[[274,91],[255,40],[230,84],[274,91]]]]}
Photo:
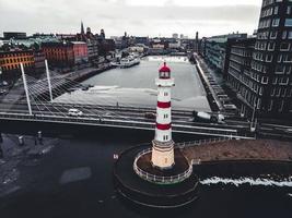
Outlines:
{"type": "MultiPolygon", "coordinates": [[[[69,117],[63,114],[27,114],[27,113],[15,113],[15,112],[0,112],[1,121],[16,121],[21,124],[22,122],[32,122],[36,125],[38,123],[55,123],[55,124],[72,124],[72,125],[86,125],[86,126],[104,126],[104,128],[116,128],[116,129],[135,129],[153,131],[155,129],[154,120],[149,120],[142,117],[137,117],[133,113],[127,116],[82,116],[82,117],[69,117]]],[[[208,135],[215,137],[230,137],[230,138],[253,138],[241,134],[236,129],[229,126],[217,126],[213,124],[196,124],[189,121],[184,121],[174,116],[172,130],[175,133],[194,134],[194,135],[208,135]]]]}

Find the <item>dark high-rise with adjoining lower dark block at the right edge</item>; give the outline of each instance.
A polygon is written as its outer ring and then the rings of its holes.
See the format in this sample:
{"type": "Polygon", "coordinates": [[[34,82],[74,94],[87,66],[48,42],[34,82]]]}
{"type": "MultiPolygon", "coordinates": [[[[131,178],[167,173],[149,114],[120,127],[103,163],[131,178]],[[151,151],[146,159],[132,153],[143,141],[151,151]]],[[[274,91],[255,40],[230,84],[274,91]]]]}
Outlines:
{"type": "MultiPolygon", "coordinates": [[[[262,1],[254,43],[250,66],[245,70],[236,70],[238,43],[231,45],[230,63],[225,66],[229,85],[237,93],[246,116],[255,111],[261,117],[288,118],[292,112],[292,0],[262,1]]],[[[242,49],[247,51],[246,47],[242,49]]]]}

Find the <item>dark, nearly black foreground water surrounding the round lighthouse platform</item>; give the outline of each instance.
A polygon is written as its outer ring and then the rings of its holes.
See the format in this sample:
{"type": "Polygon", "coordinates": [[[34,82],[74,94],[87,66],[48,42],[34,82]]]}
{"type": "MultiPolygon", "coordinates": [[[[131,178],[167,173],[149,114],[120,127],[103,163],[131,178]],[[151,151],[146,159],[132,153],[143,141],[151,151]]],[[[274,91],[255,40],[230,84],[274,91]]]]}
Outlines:
{"type": "MultiPolygon", "coordinates": [[[[152,210],[124,202],[113,185],[114,154],[152,136],[124,131],[59,140],[43,158],[19,165],[19,180],[5,184],[12,191],[0,198],[0,217],[292,217],[289,187],[200,185],[199,199],[183,210],[152,210]]],[[[175,136],[184,140],[192,138],[175,136]]]]}

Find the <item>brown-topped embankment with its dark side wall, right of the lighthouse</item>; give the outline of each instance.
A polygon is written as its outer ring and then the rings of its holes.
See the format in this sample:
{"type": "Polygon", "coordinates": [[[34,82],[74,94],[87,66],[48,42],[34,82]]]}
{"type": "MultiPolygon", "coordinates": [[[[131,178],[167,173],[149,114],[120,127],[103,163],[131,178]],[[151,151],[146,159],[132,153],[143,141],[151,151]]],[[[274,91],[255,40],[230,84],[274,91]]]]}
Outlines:
{"type": "Polygon", "coordinates": [[[200,178],[291,177],[292,143],[256,140],[226,141],[183,148],[200,178]]]}

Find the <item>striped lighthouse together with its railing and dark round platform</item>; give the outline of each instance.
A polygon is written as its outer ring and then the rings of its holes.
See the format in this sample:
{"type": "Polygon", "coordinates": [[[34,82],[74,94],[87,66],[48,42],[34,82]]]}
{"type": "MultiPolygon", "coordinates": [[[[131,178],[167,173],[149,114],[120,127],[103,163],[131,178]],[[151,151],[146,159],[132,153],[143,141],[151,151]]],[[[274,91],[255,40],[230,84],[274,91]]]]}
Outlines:
{"type": "Polygon", "coordinates": [[[180,149],[175,148],[172,138],[171,89],[174,78],[166,63],[159,70],[155,84],[155,137],[152,145],[135,146],[119,155],[115,164],[114,181],[118,193],[135,204],[163,209],[177,208],[198,198],[199,180],[192,173],[192,164],[180,149]],[[129,168],[131,162],[132,170],[129,168]]]}

